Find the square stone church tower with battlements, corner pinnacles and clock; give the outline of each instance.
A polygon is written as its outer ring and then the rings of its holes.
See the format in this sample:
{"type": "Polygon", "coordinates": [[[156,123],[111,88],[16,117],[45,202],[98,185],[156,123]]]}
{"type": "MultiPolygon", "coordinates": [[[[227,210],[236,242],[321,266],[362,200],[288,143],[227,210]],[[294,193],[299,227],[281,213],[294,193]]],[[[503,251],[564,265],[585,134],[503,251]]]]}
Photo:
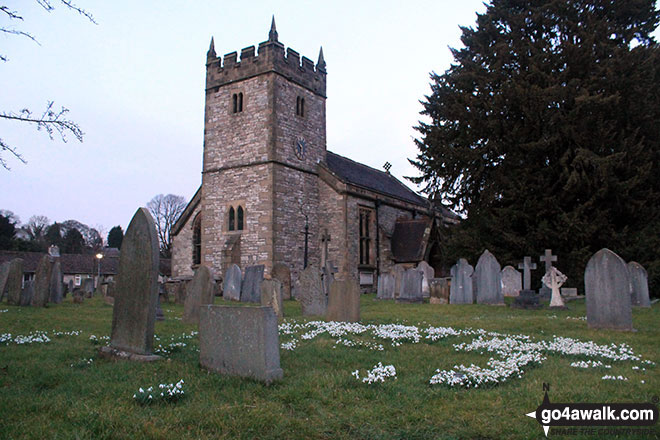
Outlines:
{"type": "Polygon", "coordinates": [[[318,164],[326,157],[326,70],[278,41],[206,61],[199,249],[193,260],[224,273],[275,263],[319,264],[318,164]]]}

